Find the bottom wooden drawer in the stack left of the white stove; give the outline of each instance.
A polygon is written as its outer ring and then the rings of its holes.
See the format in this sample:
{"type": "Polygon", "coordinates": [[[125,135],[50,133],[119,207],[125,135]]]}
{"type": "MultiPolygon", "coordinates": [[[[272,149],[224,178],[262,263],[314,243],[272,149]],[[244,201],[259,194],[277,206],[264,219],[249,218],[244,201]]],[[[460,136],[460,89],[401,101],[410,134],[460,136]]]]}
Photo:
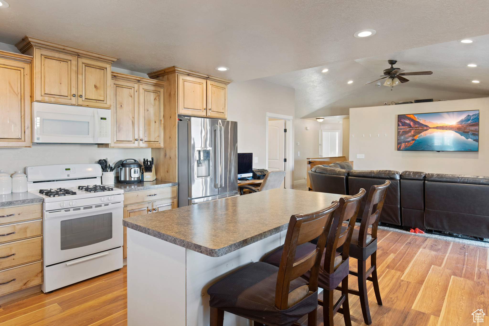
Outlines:
{"type": "Polygon", "coordinates": [[[0,272],[0,295],[43,283],[43,262],[36,261],[0,272]]]}

